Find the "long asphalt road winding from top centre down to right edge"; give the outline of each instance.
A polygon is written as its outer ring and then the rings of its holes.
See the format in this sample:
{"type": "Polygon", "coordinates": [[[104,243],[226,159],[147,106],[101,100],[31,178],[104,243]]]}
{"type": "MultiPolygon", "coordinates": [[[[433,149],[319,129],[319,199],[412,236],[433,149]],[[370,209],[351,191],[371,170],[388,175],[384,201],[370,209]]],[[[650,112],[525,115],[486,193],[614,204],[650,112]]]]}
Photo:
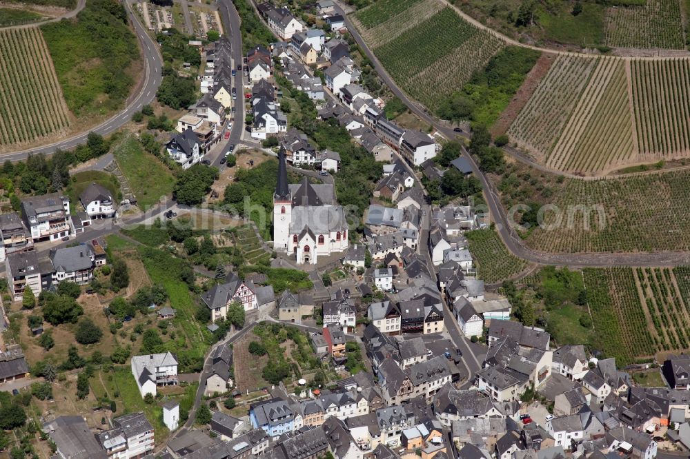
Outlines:
{"type": "MultiPolygon", "coordinates": [[[[419,116],[424,122],[432,125],[438,132],[449,139],[458,136],[451,128],[443,125],[438,119],[430,116],[426,110],[412,101],[407,94],[405,94],[393,81],[391,76],[386,72],[386,69],[377,59],[372,50],[366,45],[362,36],[357,32],[349,17],[343,12],[342,8],[336,7],[339,14],[345,18],[345,23],[352,34],[355,41],[359,45],[366,56],[371,60],[375,70],[381,79],[388,85],[391,92],[395,94],[407,107],[419,116]]],[[[639,267],[674,267],[678,265],[687,265],[690,263],[689,252],[652,252],[652,253],[616,253],[616,254],[549,254],[546,252],[538,252],[527,247],[520,236],[517,236],[513,225],[509,223],[509,218],[506,215],[506,210],[500,202],[498,192],[493,184],[487,179],[486,175],[480,171],[475,159],[463,149],[463,155],[469,159],[472,170],[484,187],[484,196],[486,197],[486,204],[489,206],[493,220],[496,222],[496,229],[498,230],[503,242],[509,251],[518,258],[522,258],[532,263],[540,265],[558,265],[570,267],[612,267],[612,266],[639,266],[639,267]]]]}

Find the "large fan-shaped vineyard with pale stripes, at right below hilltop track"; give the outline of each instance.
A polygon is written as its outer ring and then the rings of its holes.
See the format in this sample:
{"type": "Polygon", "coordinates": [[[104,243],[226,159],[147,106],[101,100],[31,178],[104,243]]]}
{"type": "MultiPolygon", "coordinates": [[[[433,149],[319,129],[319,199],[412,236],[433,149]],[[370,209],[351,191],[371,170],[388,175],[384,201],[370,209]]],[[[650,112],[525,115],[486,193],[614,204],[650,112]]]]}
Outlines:
{"type": "Polygon", "coordinates": [[[690,155],[690,59],[559,56],[508,129],[554,170],[602,173],[690,155]]]}

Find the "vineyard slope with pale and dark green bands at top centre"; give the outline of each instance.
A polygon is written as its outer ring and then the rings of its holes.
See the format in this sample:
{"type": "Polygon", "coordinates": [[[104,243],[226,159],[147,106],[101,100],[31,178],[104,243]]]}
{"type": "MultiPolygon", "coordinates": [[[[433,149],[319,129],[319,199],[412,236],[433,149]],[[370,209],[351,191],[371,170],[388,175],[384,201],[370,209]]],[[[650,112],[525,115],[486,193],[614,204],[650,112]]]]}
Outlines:
{"type": "Polygon", "coordinates": [[[388,73],[431,110],[504,46],[437,0],[380,1],[355,18],[388,73]]]}

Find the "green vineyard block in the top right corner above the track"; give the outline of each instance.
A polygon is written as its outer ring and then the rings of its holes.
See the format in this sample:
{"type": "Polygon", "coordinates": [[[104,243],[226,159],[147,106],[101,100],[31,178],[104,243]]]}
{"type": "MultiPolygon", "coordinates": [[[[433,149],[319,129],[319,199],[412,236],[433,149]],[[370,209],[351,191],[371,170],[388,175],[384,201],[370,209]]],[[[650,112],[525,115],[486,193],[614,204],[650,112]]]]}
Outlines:
{"type": "Polygon", "coordinates": [[[644,6],[611,6],[604,17],[604,43],[612,48],[685,48],[679,0],[646,0],[644,6]]]}

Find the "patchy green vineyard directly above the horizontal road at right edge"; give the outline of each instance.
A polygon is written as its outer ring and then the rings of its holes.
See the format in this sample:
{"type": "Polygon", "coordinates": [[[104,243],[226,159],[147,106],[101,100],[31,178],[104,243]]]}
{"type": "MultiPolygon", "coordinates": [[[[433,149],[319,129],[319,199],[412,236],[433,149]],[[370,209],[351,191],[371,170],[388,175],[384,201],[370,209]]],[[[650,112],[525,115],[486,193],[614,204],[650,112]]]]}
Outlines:
{"type": "MultiPolygon", "coordinates": [[[[584,181],[511,165],[493,178],[507,210],[552,205],[526,232],[532,249],[557,253],[690,249],[689,170],[584,181]]],[[[509,212],[510,213],[510,212],[509,212]]]]}

